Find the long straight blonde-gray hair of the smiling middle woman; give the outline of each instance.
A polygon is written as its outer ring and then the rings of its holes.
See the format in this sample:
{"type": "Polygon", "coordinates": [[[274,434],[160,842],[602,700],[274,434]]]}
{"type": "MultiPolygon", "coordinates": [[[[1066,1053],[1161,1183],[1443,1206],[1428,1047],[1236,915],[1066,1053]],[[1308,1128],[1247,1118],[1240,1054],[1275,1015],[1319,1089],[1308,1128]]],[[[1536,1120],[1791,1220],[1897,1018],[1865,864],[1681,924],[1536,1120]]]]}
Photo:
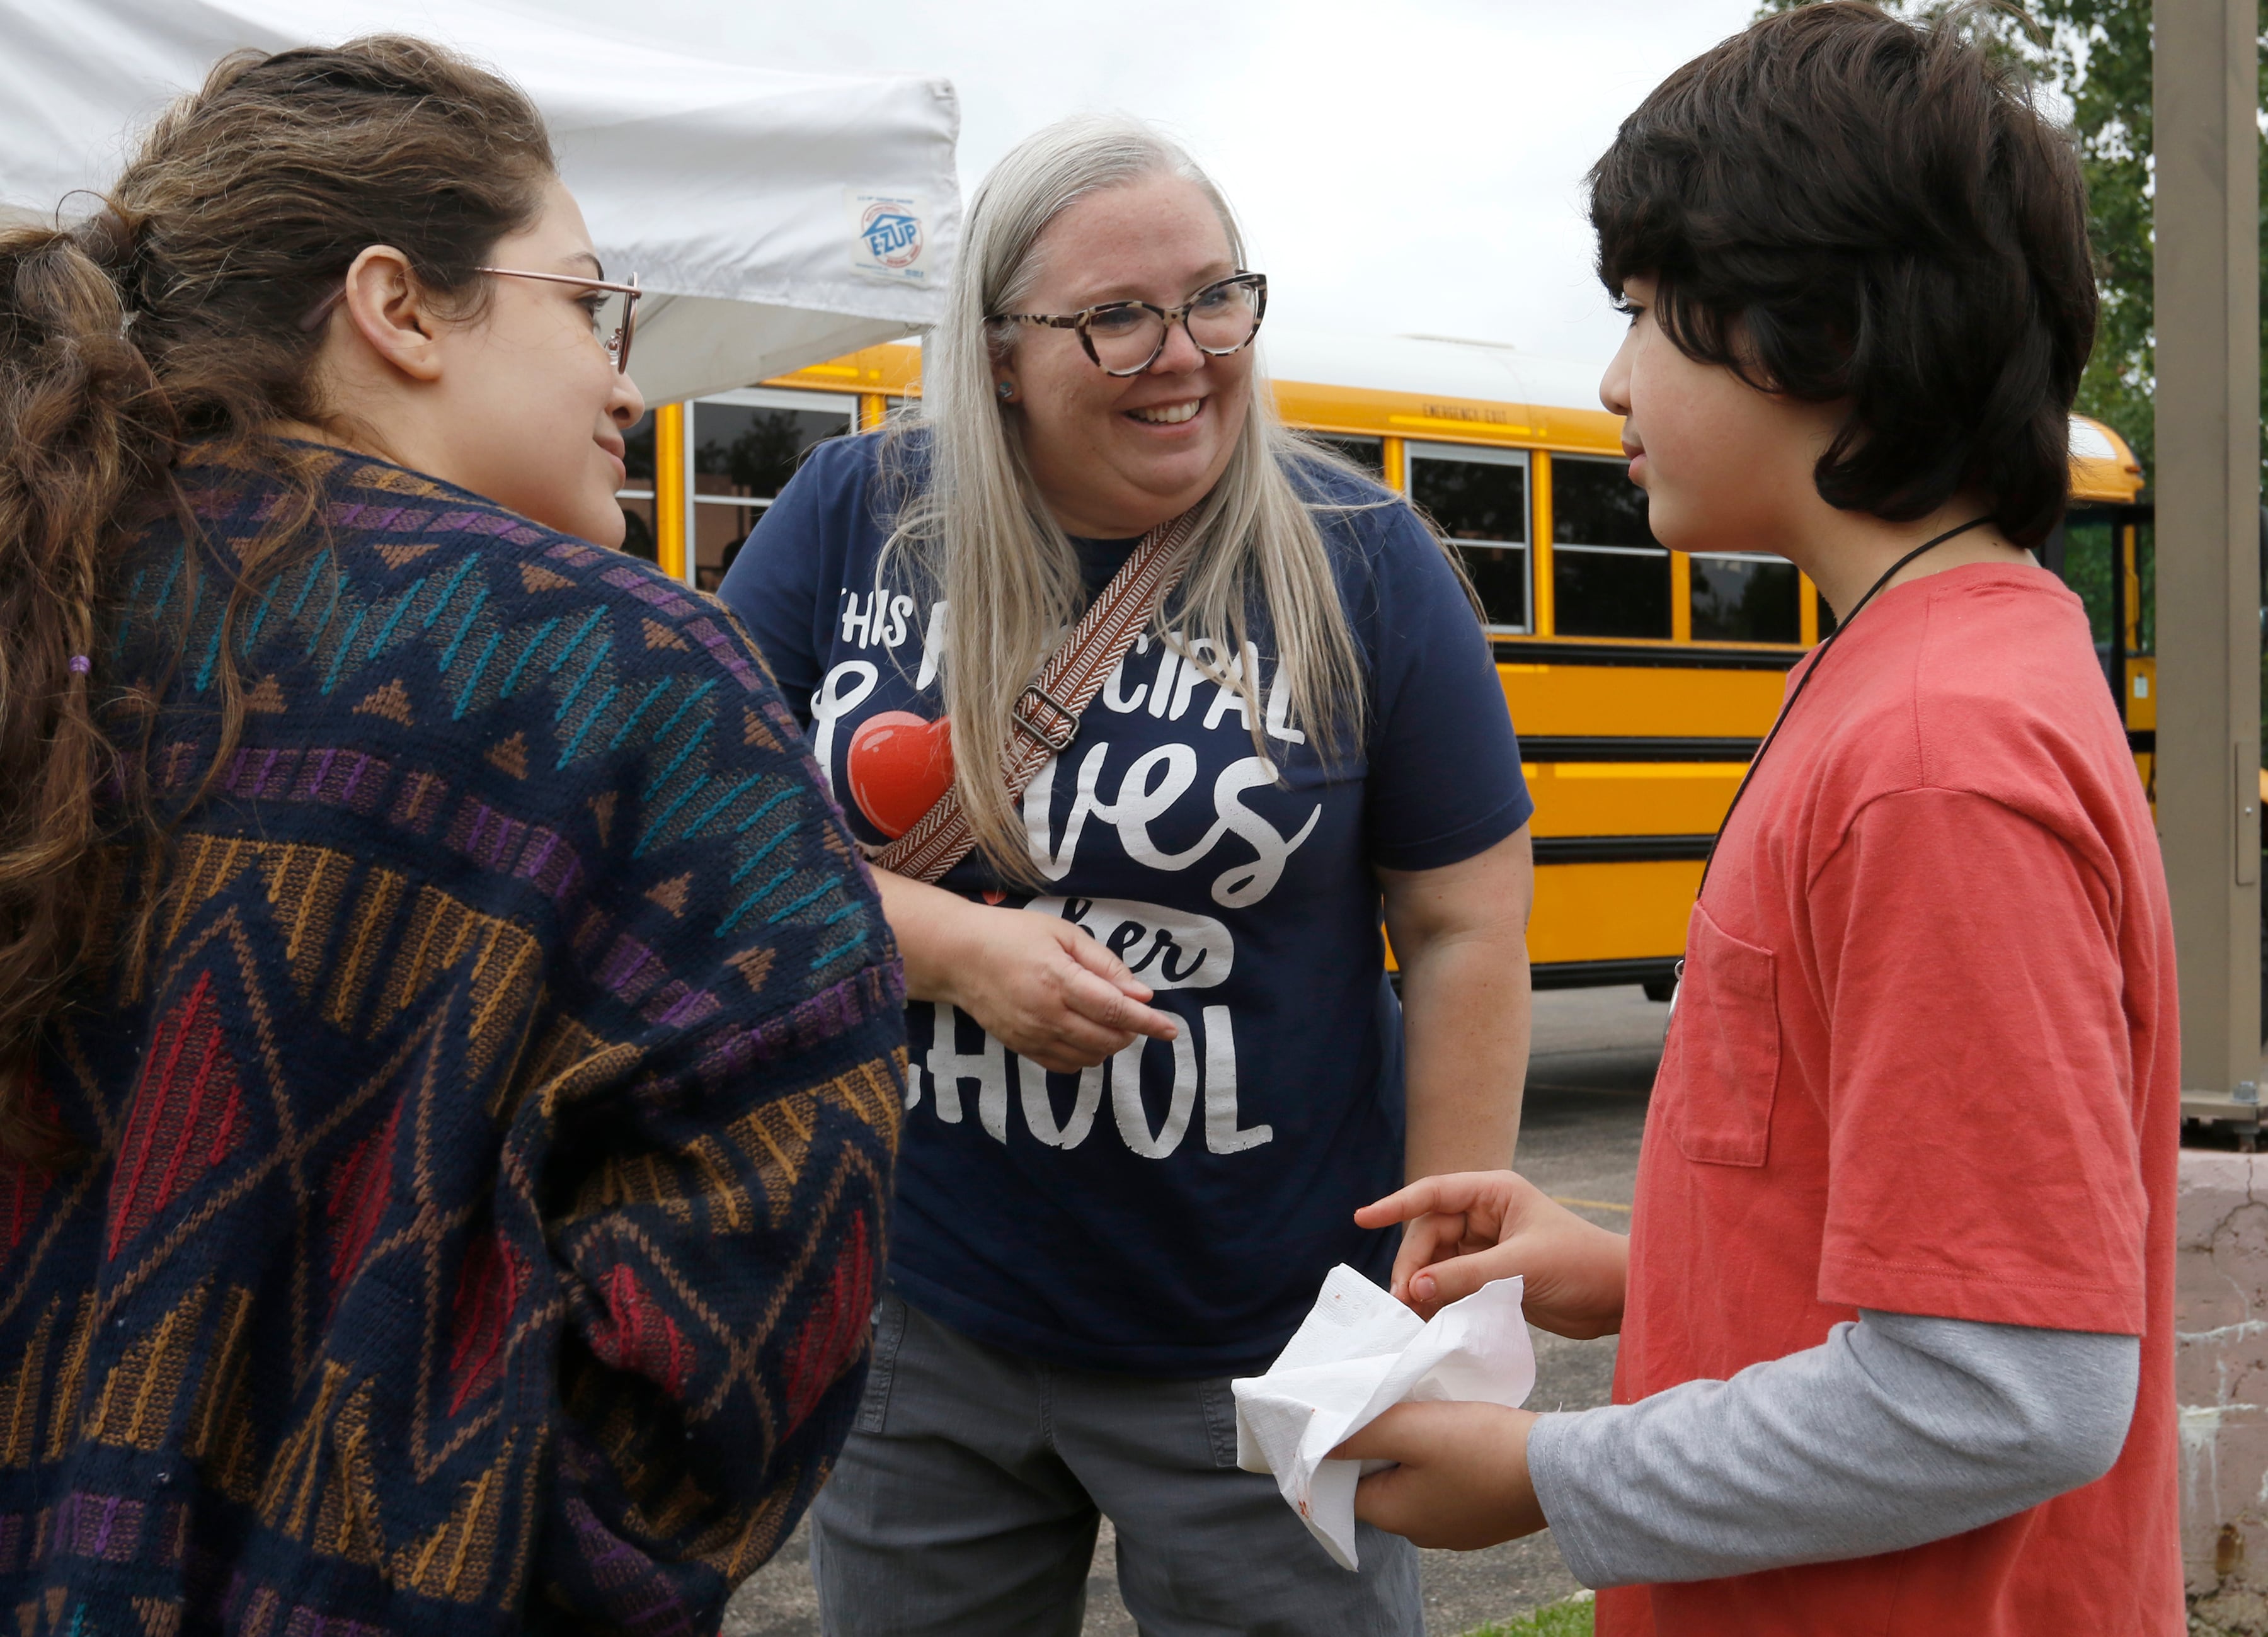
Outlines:
{"type": "MultiPolygon", "coordinates": [[[[1048,510],[1009,413],[993,395],[993,361],[1014,345],[1016,311],[1041,272],[1048,224],[1080,200],[1145,177],[1193,181],[1220,215],[1229,256],[1245,265],[1243,234],[1220,188],[1159,132],[1132,118],[1075,116],[1018,143],[968,206],[946,317],[923,342],[921,406],[896,438],[925,435],[925,472],[907,483],[882,562],[907,562],[948,603],[939,660],[953,716],[953,780],[984,857],[1036,884],[1025,825],[1000,780],[1018,694],[1084,605],[1077,551],[1048,510]]],[[[905,447],[900,442],[900,447],[905,447]]],[[[1315,510],[1300,497],[1290,460],[1338,465],[1277,417],[1254,363],[1250,408],[1227,469],[1198,503],[1188,571],[1150,610],[1152,628],[1186,662],[1245,698],[1254,753],[1266,757],[1261,678],[1247,648],[1254,603],[1272,633],[1275,687],[1288,721],[1325,757],[1361,737],[1365,698],[1354,633],[1331,578],[1315,510]]],[[[880,571],[878,571],[880,578],[880,571]]]]}

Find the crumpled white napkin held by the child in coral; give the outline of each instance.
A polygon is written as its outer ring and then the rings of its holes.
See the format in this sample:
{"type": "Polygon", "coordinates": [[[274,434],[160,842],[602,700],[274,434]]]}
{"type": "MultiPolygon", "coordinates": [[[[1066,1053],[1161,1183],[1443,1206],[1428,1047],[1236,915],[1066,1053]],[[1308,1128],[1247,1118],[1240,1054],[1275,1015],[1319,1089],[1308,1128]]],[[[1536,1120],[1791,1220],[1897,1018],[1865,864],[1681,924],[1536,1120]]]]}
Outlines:
{"type": "Polygon", "coordinates": [[[1520,1279],[1481,1286],[1420,1320],[1340,1263],[1266,1376],[1241,1376],[1236,1465],[1277,1490],[1340,1569],[1354,1569],[1354,1483],[1390,1460],[1325,1460],[1397,1403],[1520,1408],[1535,1349],[1520,1317],[1520,1279]]]}

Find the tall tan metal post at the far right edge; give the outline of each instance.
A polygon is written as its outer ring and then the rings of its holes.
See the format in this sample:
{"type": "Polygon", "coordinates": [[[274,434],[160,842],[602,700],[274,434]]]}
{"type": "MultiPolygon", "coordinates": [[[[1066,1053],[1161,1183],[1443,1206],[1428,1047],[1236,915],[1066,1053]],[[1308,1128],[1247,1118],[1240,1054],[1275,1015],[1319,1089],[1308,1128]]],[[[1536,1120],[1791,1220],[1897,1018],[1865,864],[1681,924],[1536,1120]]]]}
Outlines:
{"type": "MultiPolygon", "coordinates": [[[[2257,1104],[2257,0],[2155,0],[2157,823],[2184,1106],[2257,1104]]],[[[2232,1111],[2234,1113],[2234,1111],[2232,1111]]]]}

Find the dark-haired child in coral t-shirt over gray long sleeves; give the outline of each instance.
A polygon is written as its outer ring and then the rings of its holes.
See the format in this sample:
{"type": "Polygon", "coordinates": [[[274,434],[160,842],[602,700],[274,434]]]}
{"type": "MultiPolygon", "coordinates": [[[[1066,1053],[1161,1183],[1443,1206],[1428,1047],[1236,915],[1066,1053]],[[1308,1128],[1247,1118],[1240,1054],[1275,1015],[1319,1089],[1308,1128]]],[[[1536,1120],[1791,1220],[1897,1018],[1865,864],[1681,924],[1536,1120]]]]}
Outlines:
{"type": "Polygon", "coordinates": [[[1524,1274],[1615,1403],[1390,1410],[1356,1510],[1551,1526],[1619,1637],[2184,1630],[2173,930],[2087,614],[2032,562],[2093,338],[2068,141],[1950,27],[1817,5],[1592,172],[1603,383],[1674,549],[1842,617],[1706,873],[1631,1238],[1436,1177],[1395,1290],[1524,1274]]]}

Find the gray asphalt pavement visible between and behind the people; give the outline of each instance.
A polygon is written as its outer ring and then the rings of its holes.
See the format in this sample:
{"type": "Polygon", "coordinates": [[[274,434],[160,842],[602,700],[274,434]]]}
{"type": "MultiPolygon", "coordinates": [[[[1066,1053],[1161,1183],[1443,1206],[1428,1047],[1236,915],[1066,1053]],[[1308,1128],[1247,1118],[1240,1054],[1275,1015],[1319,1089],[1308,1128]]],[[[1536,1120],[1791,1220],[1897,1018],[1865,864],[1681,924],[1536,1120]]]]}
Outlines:
{"type": "MultiPolygon", "coordinates": [[[[1520,1170],[1597,1222],[1628,1224],[1637,1134],[1660,1061],[1669,1009],[1637,989],[1590,989],[1535,998],[1535,1047],[1520,1131],[1520,1170]],[[1622,1206],[1622,1208],[1617,1208],[1622,1206]]],[[[1535,1335],[1531,1408],[1606,1403],[1615,1345],[1535,1335]]],[[[1111,1528],[1105,1519],[1086,1580],[1086,1637],[1136,1637],[1118,1601],[1111,1528]]],[[[1427,1635],[1458,1637],[1567,1596],[1574,1578],[1549,1535],[1488,1551],[1424,1553],[1427,1635]]],[[[728,1637],[816,1637],[819,1605],[798,1528],[726,1614],[728,1637]]]]}

